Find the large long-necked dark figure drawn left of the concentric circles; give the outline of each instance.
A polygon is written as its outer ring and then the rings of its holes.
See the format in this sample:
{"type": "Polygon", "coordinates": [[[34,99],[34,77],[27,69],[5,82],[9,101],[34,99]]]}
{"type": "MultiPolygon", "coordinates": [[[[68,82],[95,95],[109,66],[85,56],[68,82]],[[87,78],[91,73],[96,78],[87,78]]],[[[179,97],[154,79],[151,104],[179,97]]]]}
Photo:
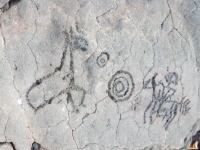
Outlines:
{"type": "MultiPolygon", "coordinates": [[[[76,26],[76,30],[77,30],[77,26],[76,26]]],[[[28,91],[26,93],[27,102],[28,102],[29,106],[31,108],[33,108],[35,111],[38,111],[40,108],[43,108],[47,104],[51,104],[52,101],[56,97],[58,97],[62,94],[67,94],[67,101],[73,103],[73,107],[75,108],[75,111],[77,112],[78,111],[77,107],[82,105],[83,101],[85,99],[86,91],[84,90],[83,87],[80,87],[79,85],[75,84],[74,51],[75,50],[81,50],[83,52],[86,51],[87,47],[88,47],[88,42],[85,40],[85,38],[82,36],[82,33],[79,30],[77,30],[77,33],[75,34],[72,27],[70,28],[69,33],[64,31],[64,34],[66,35],[65,49],[64,49],[64,52],[63,52],[63,56],[61,58],[60,66],[56,67],[54,72],[36,80],[36,82],[31,85],[31,87],[28,89],[28,91]],[[66,63],[65,60],[66,60],[67,52],[70,55],[70,62],[69,62],[70,63],[69,64],[69,70],[70,71],[69,71],[69,73],[64,75],[64,77],[62,79],[63,80],[65,80],[66,78],[68,79],[68,82],[69,82],[68,87],[61,90],[59,93],[53,95],[48,100],[43,99],[43,101],[40,105],[34,106],[31,99],[29,98],[30,92],[33,89],[40,86],[43,83],[43,81],[48,80],[52,76],[55,76],[57,72],[61,72],[61,70],[63,69],[64,63],[66,63]],[[77,99],[75,100],[75,97],[77,98],[77,96],[79,96],[79,98],[78,98],[78,100],[77,99]]],[[[54,86],[54,85],[52,85],[52,86],[54,86]]]]}

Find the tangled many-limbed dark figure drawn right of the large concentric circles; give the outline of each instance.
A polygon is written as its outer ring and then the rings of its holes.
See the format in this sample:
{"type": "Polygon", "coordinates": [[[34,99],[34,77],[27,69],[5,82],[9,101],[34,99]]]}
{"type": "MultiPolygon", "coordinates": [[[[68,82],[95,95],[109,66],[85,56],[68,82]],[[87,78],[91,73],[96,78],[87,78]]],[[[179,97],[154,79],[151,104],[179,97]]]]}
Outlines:
{"type": "Polygon", "coordinates": [[[189,111],[189,99],[183,97],[180,102],[175,100],[176,85],[178,84],[178,75],[170,72],[165,75],[164,80],[156,80],[158,73],[144,83],[143,89],[152,89],[152,98],[144,111],[144,123],[146,123],[147,112],[149,113],[150,124],[153,124],[156,118],[165,119],[164,127],[167,130],[169,124],[177,115],[178,108],[181,114],[185,115],[189,111]]]}

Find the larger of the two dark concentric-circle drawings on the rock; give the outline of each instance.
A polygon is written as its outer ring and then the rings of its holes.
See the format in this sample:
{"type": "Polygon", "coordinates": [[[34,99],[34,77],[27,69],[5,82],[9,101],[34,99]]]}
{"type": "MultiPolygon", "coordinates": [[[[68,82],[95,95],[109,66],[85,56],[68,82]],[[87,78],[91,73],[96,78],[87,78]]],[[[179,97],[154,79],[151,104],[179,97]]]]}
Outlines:
{"type": "Polygon", "coordinates": [[[127,71],[117,71],[108,82],[108,95],[114,101],[128,100],[134,90],[132,75],[127,71]]]}

